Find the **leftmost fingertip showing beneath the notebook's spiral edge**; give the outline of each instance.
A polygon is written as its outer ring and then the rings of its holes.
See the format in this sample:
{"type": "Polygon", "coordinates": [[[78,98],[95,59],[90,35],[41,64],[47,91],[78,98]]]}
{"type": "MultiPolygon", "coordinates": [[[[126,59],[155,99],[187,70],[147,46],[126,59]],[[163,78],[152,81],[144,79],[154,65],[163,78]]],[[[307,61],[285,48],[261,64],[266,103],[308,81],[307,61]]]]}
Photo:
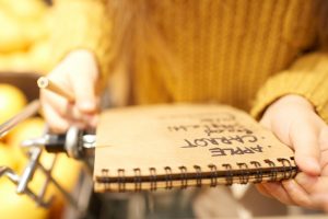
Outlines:
{"type": "Polygon", "coordinates": [[[294,205],[289,194],[284,191],[280,183],[262,183],[265,189],[280,203],[294,205]]]}

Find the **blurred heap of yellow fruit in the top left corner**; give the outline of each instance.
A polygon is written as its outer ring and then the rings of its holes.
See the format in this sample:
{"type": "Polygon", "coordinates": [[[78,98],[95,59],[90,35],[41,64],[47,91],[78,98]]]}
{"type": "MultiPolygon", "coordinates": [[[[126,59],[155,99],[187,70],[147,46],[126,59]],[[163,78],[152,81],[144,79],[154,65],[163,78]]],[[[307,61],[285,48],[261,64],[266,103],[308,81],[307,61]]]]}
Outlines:
{"type": "Polygon", "coordinates": [[[0,1],[0,71],[49,70],[50,10],[43,0],[0,1]]]}

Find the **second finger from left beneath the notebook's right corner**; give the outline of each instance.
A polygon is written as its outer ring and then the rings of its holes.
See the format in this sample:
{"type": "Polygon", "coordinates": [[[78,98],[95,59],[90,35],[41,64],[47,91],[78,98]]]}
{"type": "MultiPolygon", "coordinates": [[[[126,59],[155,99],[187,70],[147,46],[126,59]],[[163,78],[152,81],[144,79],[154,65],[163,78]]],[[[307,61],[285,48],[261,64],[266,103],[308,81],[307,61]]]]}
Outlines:
{"type": "Polygon", "coordinates": [[[309,195],[294,180],[282,181],[282,186],[294,204],[307,208],[314,207],[309,195]]]}

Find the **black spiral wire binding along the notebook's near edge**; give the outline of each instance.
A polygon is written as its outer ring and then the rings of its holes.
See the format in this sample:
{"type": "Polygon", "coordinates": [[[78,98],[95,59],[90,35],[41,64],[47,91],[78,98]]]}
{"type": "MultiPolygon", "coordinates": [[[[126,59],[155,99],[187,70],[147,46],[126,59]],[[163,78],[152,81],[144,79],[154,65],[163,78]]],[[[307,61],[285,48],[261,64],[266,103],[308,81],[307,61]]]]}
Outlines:
{"type": "MultiPolygon", "coordinates": [[[[294,177],[297,173],[297,168],[295,165],[294,158],[285,159],[285,158],[279,158],[277,159],[278,162],[280,162],[283,166],[277,166],[277,163],[273,161],[266,159],[263,160],[265,163],[268,164],[270,168],[270,172],[263,172],[261,168],[261,163],[258,161],[250,161],[249,164],[243,162],[243,163],[236,163],[238,166],[237,170],[233,170],[232,164],[224,163],[222,166],[225,169],[225,175],[223,176],[225,178],[225,185],[232,185],[237,180],[241,184],[247,184],[249,182],[253,183],[261,183],[263,181],[263,176],[266,176],[266,180],[269,182],[276,182],[278,180],[288,180],[291,177],[294,177]],[[293,162],[293,164],[292,164],[293,162]],[[255,172],[251,172],[249,166],[255,168],[255,172]],[[282,174],[279,175],[278,173],[282,174]]],[[[220,171],[218,169],[218,165],[215,164],[209,164],[208,168],[210,169],[207,174],[202,172],[200,165],[194,165],[195,171],[191,174],[195,174],[190,177],[190,173],[188,173],[188,170],[186,166],[181,165],[178,166],[179,174],[174,175],[171,166],[165,166],[165,175],[164,175],[164,182],[165,182],[165,189],[172,189],[173,183],[176,181],[179,181],[179,185],[181,189],[185,189],[188,187],[188,181],[192,180],[196,181],[196,186],[201,187],[203,178],[210,180],[210,186],[215,187],[219,185],[218,178],[220,178],[220,171]],[[204,176],[206,174],[206,176],[204,176]]],[[[163,176],[159,178],[159,175],[156,174],[155,168],[150,168],[149,172],[150,174],[148,176],[141,175],[141,169],[137,168],[133,169],[134,176],[132,178],[132,182],[127,182],[127,177],[125,176],[125,169],[118,169],[117,170],[117,177],[110,178],[109,177],[109,170],[103,169],[102,170],[102,176],[97,177],[97,183],[104,185],[105,191],[110,191],[110,184],[117,184],[118,192],[125,192],[126,191],[126,184],[127,183],[133,183],[134,184],[134,191],[140,192],[142,191],[142,184],[143,178],[145,182],[150,183],[150,191],[156,191],[157,189],[157,183],[163,182],[163,176]]],[[[221,170],[222,172],[222,170],[221,170]]]]}

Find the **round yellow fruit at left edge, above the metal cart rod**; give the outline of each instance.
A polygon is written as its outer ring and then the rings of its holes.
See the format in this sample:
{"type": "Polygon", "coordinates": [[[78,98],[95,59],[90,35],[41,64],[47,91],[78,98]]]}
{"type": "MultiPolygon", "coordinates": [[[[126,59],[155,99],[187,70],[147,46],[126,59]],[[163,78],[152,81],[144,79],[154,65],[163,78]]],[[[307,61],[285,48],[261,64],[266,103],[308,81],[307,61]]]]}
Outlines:
{"type": "Polygon", "coordinates": [[[16,115],[26,103],[27,100],[20,89],[0,83],[0,124],[16,115]]]}

